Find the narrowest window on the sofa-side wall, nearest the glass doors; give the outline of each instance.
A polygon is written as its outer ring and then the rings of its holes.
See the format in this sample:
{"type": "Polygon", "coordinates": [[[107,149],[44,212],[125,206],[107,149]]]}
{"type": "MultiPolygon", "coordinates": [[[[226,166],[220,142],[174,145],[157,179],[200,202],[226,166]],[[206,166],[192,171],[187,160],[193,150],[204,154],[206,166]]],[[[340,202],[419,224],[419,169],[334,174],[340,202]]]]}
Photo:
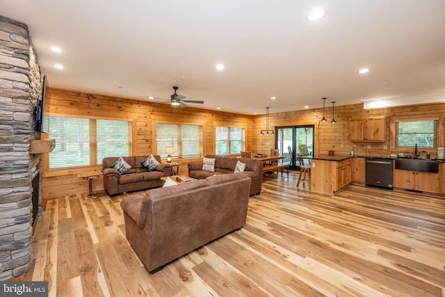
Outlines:
{"type": "Polygon", "coordinates": [[[216,154],[240,154],[244,147],[244,129],[216,127],[216,154]]]}

